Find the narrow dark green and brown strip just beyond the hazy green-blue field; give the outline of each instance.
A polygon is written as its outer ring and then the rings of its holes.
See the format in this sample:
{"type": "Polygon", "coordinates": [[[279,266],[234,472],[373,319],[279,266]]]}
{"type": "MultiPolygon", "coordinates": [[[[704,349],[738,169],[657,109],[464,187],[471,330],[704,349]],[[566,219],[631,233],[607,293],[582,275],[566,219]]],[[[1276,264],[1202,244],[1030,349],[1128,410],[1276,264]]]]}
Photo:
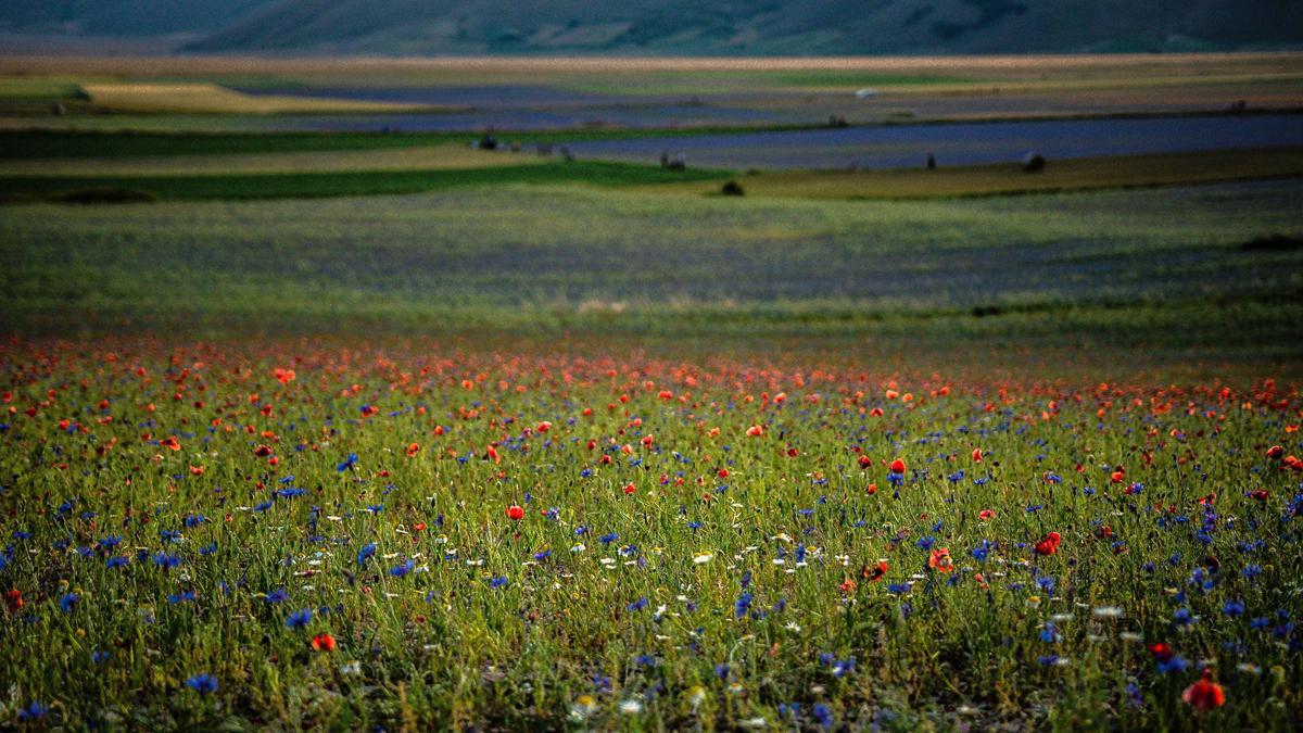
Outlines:
{"type": "MultiPolygon", "coordinates": [[[[134,138],[126,136],[124,141],[137,142],[134,138]]],[[[384,141],[384,136],[361,136],[357,143],[383,145],[384,141]]],[[[313,141],[289,137],[285,146],[304,142],[313,141]]],[[[167,147],[159,145],[158,149],[167,147]]],[[[172,155],[139,158],[0,159],[0,201],[57,200],[69,193],[113,189],[142,192],[164,200],[302,198],[516,183],[642,185],[648,193],[683,198],[717,194],[727,180],[739,181],[748,196],[756,197],[890,200],[1144,188],[1303,175],[1303,150],[1299,149],[1062,159],[1054,160],[1038,175],[1022,172],[1016,163],[955,166],[937,171],[769,171],[743,175],[693,168],[675,172],[633,163],[559,162],[555,155],[536,155],[529,146],[521,153],[489,153],[470,150],[465,143],[225,155],[184,155],[181,150],[185,147],[171,150],[176,153],[172,155]]],[[[666,201],[666,206],[676,205],[666,201]]]]}

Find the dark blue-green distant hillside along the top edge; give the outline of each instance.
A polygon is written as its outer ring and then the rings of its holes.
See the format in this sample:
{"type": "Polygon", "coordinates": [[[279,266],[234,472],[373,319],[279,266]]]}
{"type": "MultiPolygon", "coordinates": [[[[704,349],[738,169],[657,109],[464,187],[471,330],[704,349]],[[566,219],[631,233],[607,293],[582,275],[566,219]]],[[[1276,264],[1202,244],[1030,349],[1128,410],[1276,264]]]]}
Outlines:
{"type": "Polygon", "coordinates": [[[8,0],[0,30],[189,52],[873,55],[1303,48],[1298,0],[8,0]]]}

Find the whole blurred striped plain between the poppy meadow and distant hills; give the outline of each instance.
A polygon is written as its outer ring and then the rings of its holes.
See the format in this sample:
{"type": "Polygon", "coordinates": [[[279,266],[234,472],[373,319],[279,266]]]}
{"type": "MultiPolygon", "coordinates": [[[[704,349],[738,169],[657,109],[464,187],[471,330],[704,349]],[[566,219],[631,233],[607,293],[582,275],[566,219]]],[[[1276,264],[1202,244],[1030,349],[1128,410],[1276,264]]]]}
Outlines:
{"type": "Polygon", "coordinates": [[[4,316],[1296,370],[1300,59],[10,56],[4,316]]]}

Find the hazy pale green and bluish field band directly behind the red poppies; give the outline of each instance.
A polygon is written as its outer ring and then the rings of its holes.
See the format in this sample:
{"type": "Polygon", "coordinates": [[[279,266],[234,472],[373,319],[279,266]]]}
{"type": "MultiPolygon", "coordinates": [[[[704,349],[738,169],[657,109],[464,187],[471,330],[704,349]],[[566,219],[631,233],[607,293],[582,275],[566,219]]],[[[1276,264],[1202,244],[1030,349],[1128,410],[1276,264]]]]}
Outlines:
{"type": "Polygon", "coordinates": [[[998,344],[1010,361],[1296,368],[1303,252],[1240,245],[1300,233],[1298,185],[868,202],[459,184],[9,206],[0,299],[29,334],[784,339],[936,363],[998,344]]]}

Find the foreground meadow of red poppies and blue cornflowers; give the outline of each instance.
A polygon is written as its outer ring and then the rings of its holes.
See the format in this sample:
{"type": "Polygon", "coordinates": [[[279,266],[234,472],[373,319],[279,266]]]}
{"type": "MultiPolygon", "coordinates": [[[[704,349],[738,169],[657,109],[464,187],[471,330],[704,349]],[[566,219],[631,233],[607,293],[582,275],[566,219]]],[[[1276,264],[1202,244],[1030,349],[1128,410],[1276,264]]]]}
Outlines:
{"type": "Polygon", "coordinates": [[[3,724],[1303,721],[1294,383],[357,343],[0,348],[3,724]]]}

